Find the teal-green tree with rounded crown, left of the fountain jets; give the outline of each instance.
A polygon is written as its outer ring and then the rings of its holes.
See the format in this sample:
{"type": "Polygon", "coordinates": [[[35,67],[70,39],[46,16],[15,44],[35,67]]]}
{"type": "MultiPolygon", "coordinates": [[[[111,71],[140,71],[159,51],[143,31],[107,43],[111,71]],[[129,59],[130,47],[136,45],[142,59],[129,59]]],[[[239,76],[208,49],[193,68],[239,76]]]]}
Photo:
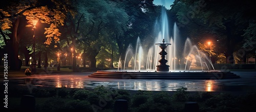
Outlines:
{"type": "Polygon", "coordinates": [[[77,6],[84,14],[81,23],[81,40],[87,44],[84,53],[91,61],[90,67],[96,67],[96,56],[104,46],[103,40],[110,39],[107,34],[122,35],[126,30],[127,14],[125,10],[111,1],[81,1],[77,6]]]}

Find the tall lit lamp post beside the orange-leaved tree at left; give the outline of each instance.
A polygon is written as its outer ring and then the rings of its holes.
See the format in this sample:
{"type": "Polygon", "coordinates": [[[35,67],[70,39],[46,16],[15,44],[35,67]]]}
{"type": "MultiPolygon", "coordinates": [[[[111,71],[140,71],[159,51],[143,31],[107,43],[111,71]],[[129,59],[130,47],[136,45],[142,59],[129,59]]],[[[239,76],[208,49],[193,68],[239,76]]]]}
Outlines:
{"type": "Polygon", "coordinates": [[[32,72],[36,72],[36,59],[35,59],[35,29],[36,29],[36,24],[37,24],[37,22],[38,22],[38,20],[36,20],[36,19],[34,19],[34,20],[32,20],[32,23],[33,23],[33,25],[34,25],[34,27],[33,27],[33,30],[34,30],[34,35],[33,35],[33,39],[34,39],[34,42],[33,42],[33,63],[32,63],[32,68],[31,68],[31,70],[32,70],[32,72]]]}

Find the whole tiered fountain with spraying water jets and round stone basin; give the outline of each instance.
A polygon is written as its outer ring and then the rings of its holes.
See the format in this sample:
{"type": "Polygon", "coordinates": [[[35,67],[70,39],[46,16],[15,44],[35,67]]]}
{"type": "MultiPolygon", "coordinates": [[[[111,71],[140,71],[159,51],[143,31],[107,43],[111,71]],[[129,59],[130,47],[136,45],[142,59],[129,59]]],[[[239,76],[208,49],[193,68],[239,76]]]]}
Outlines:
{"type": "MultiPolygon", "coordinates": [[[[130,46],[126,50],[124,65],[115,70],[97,71],[89,77],[92,78],[118,78],[118,79],[230,79],[240,78],[230,71],[216,71],[210,59],[203,52],[199,51],[197,46],[193,46],[187,38],[184,45],[183,56],[184,64],[178,59],[177,55],[177,40],[179,39],[178,27],[174,25],[174,38],[169,38],[168,34],[168,19],[166,12],[162,10],[161,28],[156,24],[156,30],[161,29],[155,44],[149,49],[141,46],[140,38],[137,39],[135,50],[130,46]],[[162,43],[159,41],[162,40],[162,43]],[[169,43],[165,43],[168,41],[169,43]],[[171,45],[167,48],[167,46],[171,45]],[[158,48],[158,45],[160,48],[158,48]],[[167,52],[166,52],[166,51],[167,52]],[[135,51],[135,53],[133,52],[135,51]],[[144,51],[148,51],[145,53],[144,51]],[[160,54],[160,57],[157,55],[160,54]],[[169,53],[167,55],[167,53],[169,53]],[[147,55],[145,55],[147,54],[147,55]],[[132,56],[133,60],[128,60],[126,57],[132,56]],[[146,57],[146,59],[143,59],[146,57]],[[165,59],[166,58],[166,59],[165,59]],[[126,60],[127,59],[127,60],[126,60]],[[158,61],[157,61],[158,60],[158,61]],[[134,62],[130,66],[125,66],[127,63],[134,62]],[[159,64],[160,63],[160,64],[159,64]],[[167,64],[168,65],[167,65],[167,64]],[[159,65],[158,65],[159,64],[159,65]]],[[[119,66],[118,65],[118,66],[119,66]]]]}

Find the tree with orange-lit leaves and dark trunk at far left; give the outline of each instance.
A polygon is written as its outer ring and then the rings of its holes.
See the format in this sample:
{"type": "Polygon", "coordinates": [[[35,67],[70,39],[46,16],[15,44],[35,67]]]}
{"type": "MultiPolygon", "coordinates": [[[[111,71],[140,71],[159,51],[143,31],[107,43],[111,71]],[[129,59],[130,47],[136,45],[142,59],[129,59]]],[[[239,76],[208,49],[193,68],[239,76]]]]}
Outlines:
{"type": "Polygon", "coordinates": [[[10,69],[19,70],[18,68],[18,48],[19,48],[19,40],[20,34],[22,32],[18,32],[20,25],[20,17],[27,16],[28,20],[34,19],[38,17],[38,19],[42,19],[42,23],[51,24],[50,28],[46,29],[46,33],[48,34],[48,41],[46,44],[50,44],[51,38],[54,37],[56,41],[58,41],[59,34],[55,34],[57,30],[57,26],[62,24],[62,19],[65,18],[65,13],[70,12],[69,8],[66,7],[69,5],[69,1],[6,1],[4,4],[1,4],[1,18],[0,20],[5,21],[4,26],[9,26],[11,29],[10,40],[6,41],[6,46],[9,49],[10,56],[10,69]],[[35,11],[35,12],[34,12],[35,11]],[[47,13],[48,12],[48,13],[47,13]],[[24,14],[24,15],[23,15],[24,14]],[[34,15],[31,15],[34,14],[34,15]],[[7,21],[8,20],[8,21],[7,21]],[[45,20],[45,21],[44,21],[45,20]],[[11,22],[10,22],[11,21],[11,22]]]}

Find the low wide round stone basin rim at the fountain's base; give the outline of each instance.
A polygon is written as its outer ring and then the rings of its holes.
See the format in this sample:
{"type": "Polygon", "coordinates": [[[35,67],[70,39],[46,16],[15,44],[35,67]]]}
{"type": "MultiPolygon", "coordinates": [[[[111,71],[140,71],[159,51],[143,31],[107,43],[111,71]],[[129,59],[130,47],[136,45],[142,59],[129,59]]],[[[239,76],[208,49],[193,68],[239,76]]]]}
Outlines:
{"type": "Polygon", "coordinates": [[[155,72],[155,71],[97,71],[89,77],[92,78],[112,78],[112,79],[234,79],[240,76],[230,71],[175,71],[175,72],[155,72]]]}

